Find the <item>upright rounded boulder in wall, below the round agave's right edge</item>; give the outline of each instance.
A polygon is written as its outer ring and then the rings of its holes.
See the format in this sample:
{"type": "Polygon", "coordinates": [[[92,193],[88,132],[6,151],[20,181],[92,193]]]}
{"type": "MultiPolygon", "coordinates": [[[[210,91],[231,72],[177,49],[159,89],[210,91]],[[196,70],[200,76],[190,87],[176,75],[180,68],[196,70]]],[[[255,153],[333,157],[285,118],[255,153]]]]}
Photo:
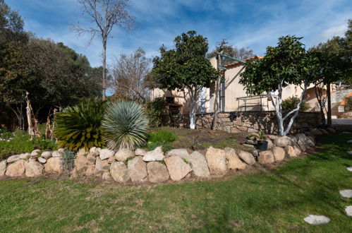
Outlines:
{"type": "Polygon", "coordinates": [[[127,169],[133,182],[143,182],[148,176],[147,163],[143,161],[142,156],[128,160],[127,169]]]}

